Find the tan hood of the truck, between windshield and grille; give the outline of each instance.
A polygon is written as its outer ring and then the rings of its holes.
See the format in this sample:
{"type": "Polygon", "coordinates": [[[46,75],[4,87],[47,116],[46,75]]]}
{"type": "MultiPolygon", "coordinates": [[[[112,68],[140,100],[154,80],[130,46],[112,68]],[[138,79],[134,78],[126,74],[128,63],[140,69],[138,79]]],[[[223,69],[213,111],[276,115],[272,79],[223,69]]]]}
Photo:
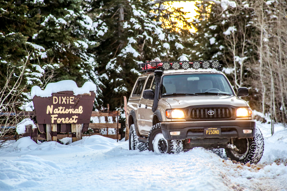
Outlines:
{"type": "Polygon", "coordinates": [[[232,105],[234,107],[249,106],[243,99],[235,96],[186,96],[164,97],[162,100],[170,104],[171,108],[185,108],[194,105],[232,105]]]}

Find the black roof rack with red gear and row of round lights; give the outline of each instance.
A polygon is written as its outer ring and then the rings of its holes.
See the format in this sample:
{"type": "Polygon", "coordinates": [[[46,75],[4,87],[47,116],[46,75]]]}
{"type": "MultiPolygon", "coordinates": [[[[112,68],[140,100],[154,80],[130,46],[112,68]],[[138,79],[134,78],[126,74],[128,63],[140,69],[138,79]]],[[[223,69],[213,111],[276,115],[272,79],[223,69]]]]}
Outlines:
{"type": "Polygon", "coordinates": [[[155,70],[178,70],[178,69],[210,69],[214,68],[218,71],[222,70],[223,62],[221,60],[195,60],[195,61],[166,61],[166,62],[151,62],[137,64],[138,72],[153,72],[155,70]]]}

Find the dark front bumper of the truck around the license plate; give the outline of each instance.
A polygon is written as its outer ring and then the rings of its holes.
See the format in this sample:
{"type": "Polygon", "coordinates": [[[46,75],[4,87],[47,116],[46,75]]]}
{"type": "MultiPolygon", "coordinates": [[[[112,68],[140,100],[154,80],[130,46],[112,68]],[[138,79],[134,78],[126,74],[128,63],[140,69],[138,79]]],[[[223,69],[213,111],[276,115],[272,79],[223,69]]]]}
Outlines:
{"type": "Polygon", "coordinates": [[[232,121],[175,121],[161,122],[162,134],[167,140],[205,139],[205,138],[253,138],[254,120],[232,121]],[[220,135],[205,135],[203,129],[217,127],[220,135]],[[243,133],[243,129],[252,129],[252,133],[243,133]],[[170,135],[170,131],[180,131],[180,135],[170,135]]]}

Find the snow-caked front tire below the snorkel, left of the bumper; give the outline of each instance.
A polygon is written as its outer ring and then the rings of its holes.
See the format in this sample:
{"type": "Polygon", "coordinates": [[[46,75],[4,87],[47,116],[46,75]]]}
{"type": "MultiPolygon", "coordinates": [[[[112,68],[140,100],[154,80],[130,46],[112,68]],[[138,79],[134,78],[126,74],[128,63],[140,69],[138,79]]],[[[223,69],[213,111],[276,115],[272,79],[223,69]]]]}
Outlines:
{"type": "Polygon", "coordinates": [[[158,146],[160,143],[154,143],[154,138],[158,135],[159,140],[164,144],[164,147],[161,147],[163,150],[161,150],[159,147],[158,151],[156,153],[161,154],[161,153],[180,153],[183,151],[183,141],[182,140],[166,140],[164,139],[162,135],[162,130],[160,128],[161,123],[157,123],[152,127],[150,132],[148,133],[148,141],[147,141],[147,146],[148,150],[154,151],[154,144],[157,144],[158,146]]]}

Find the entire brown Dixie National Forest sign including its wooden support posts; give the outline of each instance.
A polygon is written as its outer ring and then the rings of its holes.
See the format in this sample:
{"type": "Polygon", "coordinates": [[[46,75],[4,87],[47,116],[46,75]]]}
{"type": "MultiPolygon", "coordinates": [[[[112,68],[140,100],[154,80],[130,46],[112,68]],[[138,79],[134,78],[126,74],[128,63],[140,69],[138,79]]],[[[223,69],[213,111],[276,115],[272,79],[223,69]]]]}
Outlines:
{"type": "Polygon", "coordinates": [[[72,142],[81,140],[82,132],[89,127],[95,97],[92,91],[76,96],[72,91],[53,93],[51,97],[34,96],[40,133],[46,133],[47,141],[57,141],[57,133],[72,133],[72,142]]]}

